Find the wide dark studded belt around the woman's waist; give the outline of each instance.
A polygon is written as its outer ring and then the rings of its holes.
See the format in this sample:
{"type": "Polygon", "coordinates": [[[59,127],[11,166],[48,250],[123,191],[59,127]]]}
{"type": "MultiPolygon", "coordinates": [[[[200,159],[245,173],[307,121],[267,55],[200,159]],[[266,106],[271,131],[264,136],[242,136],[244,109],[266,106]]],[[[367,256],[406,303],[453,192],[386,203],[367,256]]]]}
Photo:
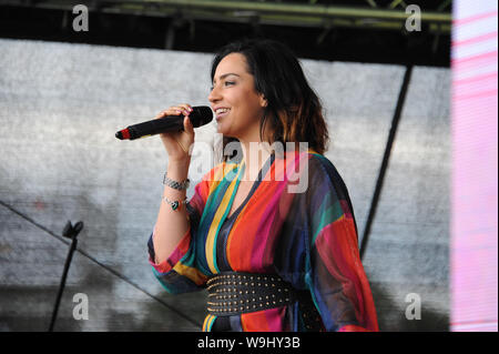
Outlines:
{"type": "Polygon", "coordinates": [[[207,311],[217,316],[285,306],[301,293],[275,274],[226,272],[210,277],[206,285],[207,311]]]}

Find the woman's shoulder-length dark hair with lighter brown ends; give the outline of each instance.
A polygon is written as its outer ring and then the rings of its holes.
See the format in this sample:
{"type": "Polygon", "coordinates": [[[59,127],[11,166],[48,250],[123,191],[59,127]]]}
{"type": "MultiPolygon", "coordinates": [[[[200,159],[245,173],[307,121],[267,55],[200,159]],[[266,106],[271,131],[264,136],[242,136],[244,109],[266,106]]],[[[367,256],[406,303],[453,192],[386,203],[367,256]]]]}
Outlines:
{"type": "MultiPolygon", "coordinates": [[[[241,53],[247,71],[254,77],[255,91],[267,100],[259,124],[259,138],[269,144],[308,142],[308,148],[323,154],[329,134],[317,94],[309,87],[296,55],[281,42],[268,39],[245,39],[223,47],[213,59],[211,78],[226,55],[241,53]]],[[[224,136],[225,145],[235,138],[224,136]]],[[[231,156],[224,156],[225,161],[231,156]]]]}

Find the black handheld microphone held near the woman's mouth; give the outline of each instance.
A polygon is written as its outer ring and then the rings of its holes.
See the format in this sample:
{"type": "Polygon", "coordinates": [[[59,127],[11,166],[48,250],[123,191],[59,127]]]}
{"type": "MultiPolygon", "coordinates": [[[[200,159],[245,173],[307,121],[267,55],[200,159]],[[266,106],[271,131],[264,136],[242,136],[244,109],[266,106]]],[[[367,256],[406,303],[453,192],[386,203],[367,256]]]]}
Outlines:
{"type": "MultiPolygon", "coordinates": [[[[130,125],[116,132],[115,136],[120,140],[134,140],[165,132],[180,132],[184,130],[185,115],[166,115],[152,121],[130,125]]],[[[213,120],[213,112],[207,105],[197,105],[192,108],[189,115],[194,128],[210,123],[213,120]]]]}

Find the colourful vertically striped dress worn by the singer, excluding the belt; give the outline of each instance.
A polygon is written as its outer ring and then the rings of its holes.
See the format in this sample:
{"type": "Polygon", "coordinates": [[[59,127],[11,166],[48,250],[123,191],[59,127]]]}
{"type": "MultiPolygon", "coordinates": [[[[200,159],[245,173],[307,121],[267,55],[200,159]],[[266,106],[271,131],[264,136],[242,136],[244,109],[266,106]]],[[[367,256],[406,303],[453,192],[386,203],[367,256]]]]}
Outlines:
{"type": "MultiPolygon", "coordinates": [[[[190,229],[154,275],[170,293],[205,289],[221,272],[272,273],[309,291],[325,331],[378,331],[359,259],[348,191],[333,163],[313,150],[273,153],[246,200],[227,218],[244,162],[216,165],[187,204],[190,229]]],[[[297,302],[241,315],[208,314],[203,331],[305,331],[297,302]]]]}

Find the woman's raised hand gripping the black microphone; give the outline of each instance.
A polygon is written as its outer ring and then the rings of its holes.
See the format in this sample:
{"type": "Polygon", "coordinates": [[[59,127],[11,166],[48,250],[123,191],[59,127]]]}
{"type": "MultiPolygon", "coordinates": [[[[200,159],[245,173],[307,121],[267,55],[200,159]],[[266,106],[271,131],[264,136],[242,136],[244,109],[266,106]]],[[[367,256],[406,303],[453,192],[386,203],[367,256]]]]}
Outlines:
{"type": "Polygon", "coordinates": [[[191,158],[190,150],[194,143],[194,127],[189,119],[192,107],[187,103],[172,105],[167,110],[161,112],[155,119],[163,119],[166,115],[185,115],[184,130],[180,132],[161,133],[161,140],[169,154],[171,162],[185,162],[191,158]]]}

